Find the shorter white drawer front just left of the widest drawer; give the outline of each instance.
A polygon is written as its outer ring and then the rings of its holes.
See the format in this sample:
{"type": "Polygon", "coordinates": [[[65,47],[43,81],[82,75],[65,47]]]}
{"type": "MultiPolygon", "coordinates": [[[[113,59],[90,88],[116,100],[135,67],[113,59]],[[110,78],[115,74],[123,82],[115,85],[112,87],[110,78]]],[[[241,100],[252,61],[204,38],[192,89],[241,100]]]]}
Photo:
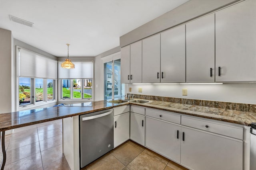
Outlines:
{"type": "Polygon", "coordinates": [[[180,114],[170,111],[160,111],[157,109],[146,108],[146,116],[180,124],[180,114]]]}

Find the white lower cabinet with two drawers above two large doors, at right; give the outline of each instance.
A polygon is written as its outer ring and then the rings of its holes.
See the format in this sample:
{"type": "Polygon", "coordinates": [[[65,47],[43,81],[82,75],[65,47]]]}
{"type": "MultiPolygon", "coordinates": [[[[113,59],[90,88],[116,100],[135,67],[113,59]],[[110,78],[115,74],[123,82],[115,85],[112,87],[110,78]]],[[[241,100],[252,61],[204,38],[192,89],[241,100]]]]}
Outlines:
{"type": "Polygon", "coordinates": [[[145,146],[190,170],[242,170],[243,127],[146,108],[145,146]]]}

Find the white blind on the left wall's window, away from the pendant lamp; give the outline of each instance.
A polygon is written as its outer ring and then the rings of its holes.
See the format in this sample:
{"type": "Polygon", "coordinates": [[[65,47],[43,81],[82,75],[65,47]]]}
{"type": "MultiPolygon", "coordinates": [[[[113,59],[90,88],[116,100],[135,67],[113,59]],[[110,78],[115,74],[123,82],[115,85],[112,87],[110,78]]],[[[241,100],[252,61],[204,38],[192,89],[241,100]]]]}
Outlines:
{"type": "Polygon", "coordinates": [[[19,76],[57,79],[57,61],[32,51],[18,48],[19,76]]]}

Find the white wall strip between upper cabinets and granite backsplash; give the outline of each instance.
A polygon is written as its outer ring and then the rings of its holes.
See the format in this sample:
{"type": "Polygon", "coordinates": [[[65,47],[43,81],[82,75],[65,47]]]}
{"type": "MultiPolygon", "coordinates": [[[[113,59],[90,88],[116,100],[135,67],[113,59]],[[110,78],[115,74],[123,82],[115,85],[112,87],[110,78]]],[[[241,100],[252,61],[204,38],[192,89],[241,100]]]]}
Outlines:
{"type": "Polygon", "coordinates": [[[131,94],[256,104],[256,83],[128,84],[128,89],[130,87],[132,92],[128,93],[131,94]],[[142,93],[138,92],[139,87],[142,88],[142,93]],[[188,89],[188,96],[182,96],[183,88],[188,89]]]}

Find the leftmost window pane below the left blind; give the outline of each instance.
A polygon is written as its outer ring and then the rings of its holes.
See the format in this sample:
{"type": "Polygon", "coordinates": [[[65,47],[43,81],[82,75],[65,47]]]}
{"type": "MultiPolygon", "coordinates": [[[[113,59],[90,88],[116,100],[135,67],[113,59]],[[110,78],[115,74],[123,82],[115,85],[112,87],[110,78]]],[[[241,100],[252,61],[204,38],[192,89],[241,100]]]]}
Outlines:
{"type": "Polygon", "coordinates": [[[19,105],[24,106],[32,104],[32,78],[20,77],[19,78],[19,105]]]}

